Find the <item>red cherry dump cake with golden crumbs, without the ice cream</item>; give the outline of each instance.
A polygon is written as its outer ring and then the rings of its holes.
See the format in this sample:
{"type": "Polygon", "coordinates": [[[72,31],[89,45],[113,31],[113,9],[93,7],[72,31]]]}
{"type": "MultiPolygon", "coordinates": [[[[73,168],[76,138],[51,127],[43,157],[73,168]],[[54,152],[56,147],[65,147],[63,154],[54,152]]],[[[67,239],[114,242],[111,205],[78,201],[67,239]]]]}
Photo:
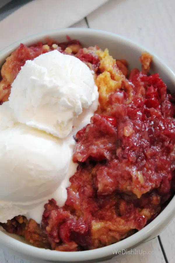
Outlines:
{"type": "Polygon", "coordinates": [[[23,44],[1,69],[1,103],[26,60],[57,49],[76,56],[93,70],[99,108],[76,134],[77,172],[70,178],[67,201],[45,204],[41,226],[18,215],[6,224],[10,233],[41,248],[79,251],[126,238],[153,220],[174,191],[174,96],[158,74],[150,75],[152,57],[141,55],[142,70],[128,70],[99,47],[78,40],[31,47],[23,44]]]}

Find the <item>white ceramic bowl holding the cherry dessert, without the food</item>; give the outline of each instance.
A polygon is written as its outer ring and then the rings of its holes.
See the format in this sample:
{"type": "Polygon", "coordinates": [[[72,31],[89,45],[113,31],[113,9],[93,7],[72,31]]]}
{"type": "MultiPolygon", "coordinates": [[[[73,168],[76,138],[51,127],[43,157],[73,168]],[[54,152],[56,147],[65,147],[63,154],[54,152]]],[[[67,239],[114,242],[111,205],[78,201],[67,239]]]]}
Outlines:
{"type": "MultiPolygon", "coordinates": [[[[116,34],[81,28],[67,28],[57,31],[44,32],[37,34],[8,46],[0,52],[0,67],[3,65],[7,56],[19,46],[22,42],[26,45],[31,45],[37,41],[43,40],[44,37],[49,36],[58,41],[65,41],[66,35],[72,39],[79,39],[84,46],[98,45],[102,49],[106,47],[114,58],[124,58],[129,62],[130,68],[140,68],[139,57],[146,49],[133,43],[132,41],[118,36],[116,34]]],[[[148,51],[149,52],[149,51],[148,51]]],[[[156,56],[153,56],[153,67],[151,73],[158,72],[168,88],[175,91],[175,75],[174,73],[162,63],[156,56]]],[[[81,251],[81,252],[60,252],[45,250],[33,247],[24,242],[24,240],[15,235],[10,235],[5,231],[0,231],[1,246],[6,249],[10,248],[11,253],[18,255],[24,259],[36,262],[98,262],[113,257],[113,250],[129,249],[138,246],[157,236],[162,229],[175,215],[175,197],[170,201],[167,207],[146,227],[134,235],[121,240],[113,245],[95,250],[81,251]]],[[[116,255],[115,255],[116,256],[116,255]]]]}

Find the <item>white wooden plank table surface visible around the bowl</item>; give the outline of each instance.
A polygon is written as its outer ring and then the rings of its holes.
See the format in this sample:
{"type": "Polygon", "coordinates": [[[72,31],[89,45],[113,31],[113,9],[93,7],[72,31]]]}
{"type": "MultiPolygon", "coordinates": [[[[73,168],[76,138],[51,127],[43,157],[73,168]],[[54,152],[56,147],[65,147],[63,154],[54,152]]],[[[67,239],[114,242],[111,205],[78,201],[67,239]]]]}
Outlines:
{"type": "MultiPolygon", "coordinates": [[[[15,9],[14,6],[12,8],[15,9]]],[[[111,0],[73,26],[101,29],[128,37],[162,58],[175,71],[175,0],[111,0]]],[[[146,255],[127,255],[107,262],[174,263],[175,219],[160,236],[139,249],[146,255]]],[[[31,262],[0,248],[0,263],[31,262]]]]}

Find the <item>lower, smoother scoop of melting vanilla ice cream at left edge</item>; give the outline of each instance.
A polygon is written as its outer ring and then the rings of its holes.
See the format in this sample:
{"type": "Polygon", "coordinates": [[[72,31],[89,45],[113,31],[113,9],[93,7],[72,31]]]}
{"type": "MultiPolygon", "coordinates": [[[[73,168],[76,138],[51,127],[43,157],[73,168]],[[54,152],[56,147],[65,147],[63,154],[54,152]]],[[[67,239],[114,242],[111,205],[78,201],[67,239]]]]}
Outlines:
{"type": "MultiPolygon", "coordinates": [[[[25,215],[41,203],[43,207],[52,198],[69,173],[73,148],[71,141],[25,124],[0,131],[0,222],[25,215]]],[[[73,165],[71,176],[77,167],[73,165]]],[[[62,198],[65,202],[61,195],[58,204],[62,198]]]]}

